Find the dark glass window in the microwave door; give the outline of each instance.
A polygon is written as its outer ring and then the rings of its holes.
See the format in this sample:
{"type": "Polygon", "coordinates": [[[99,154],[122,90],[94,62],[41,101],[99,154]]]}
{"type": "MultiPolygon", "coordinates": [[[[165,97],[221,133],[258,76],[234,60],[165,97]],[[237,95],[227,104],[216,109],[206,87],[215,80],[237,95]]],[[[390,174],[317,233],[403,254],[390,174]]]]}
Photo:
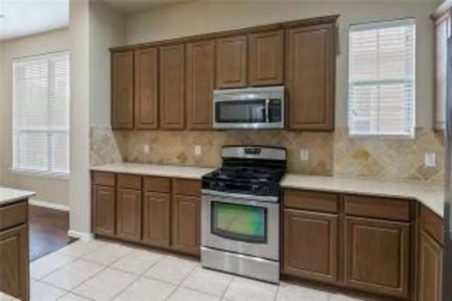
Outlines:
{"type": "Polygon", "coordinates": [[[266,122],[266,100],[217,102],[215,120],[219,123],[266,122]]]}

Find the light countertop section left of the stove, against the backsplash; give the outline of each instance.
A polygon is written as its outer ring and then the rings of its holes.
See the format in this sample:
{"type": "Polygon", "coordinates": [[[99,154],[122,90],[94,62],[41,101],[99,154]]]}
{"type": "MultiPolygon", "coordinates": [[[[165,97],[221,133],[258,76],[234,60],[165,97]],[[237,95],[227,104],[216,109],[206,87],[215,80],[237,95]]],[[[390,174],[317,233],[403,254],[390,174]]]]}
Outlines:
{"type": "Polygon", "coordinates": [[[113,163],[90,167],[98,172],[118,172],[133,175],[149,175],[156,177],[178,177],[182,179],[201,179],[203,175],[215,168],[190,167],[179,165],[157,165],[143,163],[113,163]]]}

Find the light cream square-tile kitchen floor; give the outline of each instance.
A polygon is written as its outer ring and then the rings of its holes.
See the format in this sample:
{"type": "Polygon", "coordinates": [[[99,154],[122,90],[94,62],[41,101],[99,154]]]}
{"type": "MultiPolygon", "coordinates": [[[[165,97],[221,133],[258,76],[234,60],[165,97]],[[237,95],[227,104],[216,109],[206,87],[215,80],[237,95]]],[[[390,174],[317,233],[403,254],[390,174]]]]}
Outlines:
{"type": "MultiPolygon", "coordinates": [[[[32,301],[359,301],[232,276],[189,259],[101,240],[74,242],[33,261],[30,271],[32,301]]],[[[9,300],[0,294],[0,301],[9,300]]]]}

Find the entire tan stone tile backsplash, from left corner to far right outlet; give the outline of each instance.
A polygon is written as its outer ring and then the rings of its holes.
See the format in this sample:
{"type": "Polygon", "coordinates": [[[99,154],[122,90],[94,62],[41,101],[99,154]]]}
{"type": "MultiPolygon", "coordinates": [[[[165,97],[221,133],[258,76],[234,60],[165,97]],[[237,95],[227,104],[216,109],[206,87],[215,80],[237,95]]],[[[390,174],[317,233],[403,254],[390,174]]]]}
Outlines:
{"type": "Polygon", "coordinates": [[[226,145],[287,148],[289,172],[440,183],[444,179],[444,134],[417,129],[415,138],[355,138],[346,129],[334,133],[300,131],[112,131],[91,127],[90,163],[121,160],[215,167],[226,145]],[[148,152],[145,151],[148,145],[148,152]],[[201,146],[201,156],[194,147],[201,146]],[[300,148],[309,160],[300,160],[300,148]],[[436,167],[424,167],[424,153],[436,153],[436,167]]]}

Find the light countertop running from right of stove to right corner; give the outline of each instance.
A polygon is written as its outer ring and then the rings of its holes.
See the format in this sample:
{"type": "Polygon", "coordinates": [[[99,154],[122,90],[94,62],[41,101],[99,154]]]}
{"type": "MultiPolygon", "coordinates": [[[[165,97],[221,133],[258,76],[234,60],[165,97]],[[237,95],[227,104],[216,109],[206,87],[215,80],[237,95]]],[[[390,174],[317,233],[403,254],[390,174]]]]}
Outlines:
{"type": "Polygon", "coordinates": [[[441,185],[413,181],[287,174],[281,181],[281,186],[283,188],[417,199],[437,215],[444,216],[444,187],[441,185]]]}

